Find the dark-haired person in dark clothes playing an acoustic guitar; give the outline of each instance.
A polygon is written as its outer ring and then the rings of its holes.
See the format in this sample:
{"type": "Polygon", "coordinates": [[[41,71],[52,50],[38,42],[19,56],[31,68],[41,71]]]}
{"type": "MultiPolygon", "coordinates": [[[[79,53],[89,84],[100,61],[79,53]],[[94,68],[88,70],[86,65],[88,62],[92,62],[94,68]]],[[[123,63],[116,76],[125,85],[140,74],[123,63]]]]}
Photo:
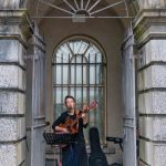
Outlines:
{"type": "Polygon", "coordinates": [[[87,114],[75,110],[75,98],[71,95],[64,100],[66,111],[54,121],[55,133],[75,134],[77,142],[62,147],[62,166],[87,166],[87,155],[83,128],[87,126],[87,114]]]}

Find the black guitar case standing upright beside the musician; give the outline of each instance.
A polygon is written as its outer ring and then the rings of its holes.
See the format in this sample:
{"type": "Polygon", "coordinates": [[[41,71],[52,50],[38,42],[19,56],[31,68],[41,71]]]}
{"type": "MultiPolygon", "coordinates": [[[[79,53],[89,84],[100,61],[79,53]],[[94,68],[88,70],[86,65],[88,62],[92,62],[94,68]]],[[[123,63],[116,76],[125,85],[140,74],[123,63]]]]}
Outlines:
{"type": "Polygon", "coordinates": [[[108,166],[106,156],[101,148],[98,129],[96,127],[90,128],[90,145],[89,166],[108,166]]]}

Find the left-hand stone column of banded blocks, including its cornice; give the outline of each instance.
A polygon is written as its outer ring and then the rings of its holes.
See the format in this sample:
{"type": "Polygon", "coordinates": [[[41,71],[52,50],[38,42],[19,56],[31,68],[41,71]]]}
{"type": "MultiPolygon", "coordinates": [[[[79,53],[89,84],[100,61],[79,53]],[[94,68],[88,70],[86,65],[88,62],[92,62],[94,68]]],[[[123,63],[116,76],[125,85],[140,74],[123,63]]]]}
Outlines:
{"type": "Polygon", "coordinates": [[[0,1],[0,166],[24,165],[28,17],[19,0],[0,1]],[[8,10],[9,8],[12,8],[8,10]],[[14,10],[13,10],[14,9],[14,10]]]}

